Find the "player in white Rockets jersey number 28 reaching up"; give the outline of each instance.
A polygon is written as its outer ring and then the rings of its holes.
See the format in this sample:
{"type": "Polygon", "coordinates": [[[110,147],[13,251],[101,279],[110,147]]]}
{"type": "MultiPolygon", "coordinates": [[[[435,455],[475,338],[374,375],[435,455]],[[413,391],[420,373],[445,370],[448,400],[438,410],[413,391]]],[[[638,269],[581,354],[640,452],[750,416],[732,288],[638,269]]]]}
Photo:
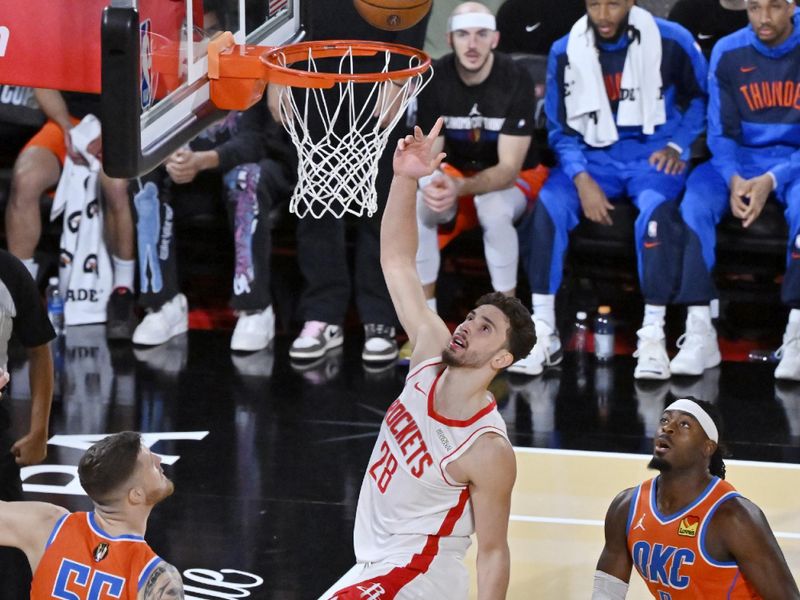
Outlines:
{"type": "Polygon", "coordinates": [[[381,424],[356,512],[356,565],[325,600],[462,600],[477,534],[478,598],[505,598],[514,451],[489,383],[535,343],[530,313],[500,293],[478,300],[451,335],[416,270],[417,180],[444,158],[442,120],[400,140],[381,224],[381,266],[414,345],[406,385],[381,424]]]}

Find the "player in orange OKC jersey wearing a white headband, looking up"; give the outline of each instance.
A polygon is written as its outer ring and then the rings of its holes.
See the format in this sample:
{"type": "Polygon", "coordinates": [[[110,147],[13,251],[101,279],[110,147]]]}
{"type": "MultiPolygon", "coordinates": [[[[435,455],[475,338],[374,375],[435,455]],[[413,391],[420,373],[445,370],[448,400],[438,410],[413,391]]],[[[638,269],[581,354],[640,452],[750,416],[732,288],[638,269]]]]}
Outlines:
{"type": "Polygon", "coordinates": [[[719,435],[708,402],[664,410],[649,465],[661,474],[611,503],[592,600],[625,598],[633,565],[658,600],[800,599],[764,513],[724,481],[719,435]]]}

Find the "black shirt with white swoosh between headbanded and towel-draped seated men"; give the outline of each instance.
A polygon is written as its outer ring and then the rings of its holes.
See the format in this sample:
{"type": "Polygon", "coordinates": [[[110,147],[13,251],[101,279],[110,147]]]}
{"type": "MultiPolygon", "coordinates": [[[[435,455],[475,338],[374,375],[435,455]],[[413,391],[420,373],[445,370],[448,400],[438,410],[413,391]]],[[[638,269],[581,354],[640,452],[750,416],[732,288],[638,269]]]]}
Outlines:
{"type": "Polygon", "coordinates": [[[497,49],[546,56],[584,12],[580,0],[506,0],[497,10],[497,49]]]}

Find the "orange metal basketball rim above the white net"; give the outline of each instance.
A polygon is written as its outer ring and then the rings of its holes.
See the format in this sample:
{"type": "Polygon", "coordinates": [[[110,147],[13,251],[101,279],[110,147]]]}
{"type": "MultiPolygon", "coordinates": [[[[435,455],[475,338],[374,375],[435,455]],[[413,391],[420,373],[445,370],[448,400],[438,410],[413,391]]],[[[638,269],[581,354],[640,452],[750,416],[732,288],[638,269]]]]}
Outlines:
{"type": "Polygon", "coordinates": [[[431,57],[422,50],[387,44],[384,42],[365,42],[361,40],[323,40],[300,42],[272,48],[260,56],[261,62],[269,67],[269,80],[294,87],[329,88],[337,83],[376,83],[393,79],[408,79],[420,75],[431,66],[431,57]],[[305,62],[311,58],[341,57],[351,52],[353,56],[374,56],[379,52],[391,52],[416,58],[419,64],[406,69],[374,73],[317,73],[294,69],[292,64],[305,62]],[[285,65],[281,64],[285,61],[285,65]]]}

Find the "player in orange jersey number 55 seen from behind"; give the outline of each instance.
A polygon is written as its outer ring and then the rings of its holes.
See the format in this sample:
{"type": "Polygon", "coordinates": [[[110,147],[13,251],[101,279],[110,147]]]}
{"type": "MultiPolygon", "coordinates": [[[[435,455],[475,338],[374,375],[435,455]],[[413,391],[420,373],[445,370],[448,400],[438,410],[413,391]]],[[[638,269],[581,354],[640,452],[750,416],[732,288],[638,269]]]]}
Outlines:
{"type": "Polygon", "coordinates": [[[180,573],[144,541],[153,507],[174,488],[161,460],[124,431],[89,448],[78,465],[94,511],[0,502],[0,545],[28,557],[31,600],[184,597],[180,573]]]}

